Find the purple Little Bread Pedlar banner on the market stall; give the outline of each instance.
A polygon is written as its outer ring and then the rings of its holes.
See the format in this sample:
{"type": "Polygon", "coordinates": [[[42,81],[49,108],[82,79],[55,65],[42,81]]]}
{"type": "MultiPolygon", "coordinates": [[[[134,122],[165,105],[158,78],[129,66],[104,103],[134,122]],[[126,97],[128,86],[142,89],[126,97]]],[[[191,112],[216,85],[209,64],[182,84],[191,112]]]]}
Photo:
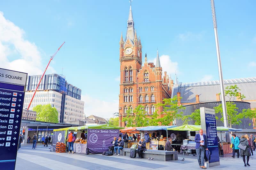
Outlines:
{"type": "Polygon", "coordinates": [[[90,153],[108,151],[114,137],[119,136],[119,129],[88,129],[87,148],[90,153]]]}

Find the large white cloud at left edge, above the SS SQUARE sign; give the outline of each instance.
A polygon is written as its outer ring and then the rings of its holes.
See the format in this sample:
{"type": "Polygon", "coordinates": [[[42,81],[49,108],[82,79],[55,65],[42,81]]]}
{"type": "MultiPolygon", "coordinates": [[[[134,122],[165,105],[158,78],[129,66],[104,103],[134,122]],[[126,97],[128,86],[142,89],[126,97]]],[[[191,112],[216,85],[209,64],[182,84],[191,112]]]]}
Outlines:
{"type": "Polygon", "coordinates": [[[0,67],[29,75],[42,74],[40,52],[34,43],[24,39],[24,34],[0,11],[0,67]]]}

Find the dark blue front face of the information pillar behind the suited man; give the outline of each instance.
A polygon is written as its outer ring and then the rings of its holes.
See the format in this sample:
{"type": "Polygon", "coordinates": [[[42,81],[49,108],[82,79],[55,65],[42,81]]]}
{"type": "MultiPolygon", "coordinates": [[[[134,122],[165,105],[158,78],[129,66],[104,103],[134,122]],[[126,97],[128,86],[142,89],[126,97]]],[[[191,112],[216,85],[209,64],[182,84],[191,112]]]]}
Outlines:
{"type": "Polygon", "coordinates": [[[209,163],[218,162],[220,161],[220,158],[215,114],[205,113],[205,125],[207,132],[208,150],[211,153],[209,163]]]}

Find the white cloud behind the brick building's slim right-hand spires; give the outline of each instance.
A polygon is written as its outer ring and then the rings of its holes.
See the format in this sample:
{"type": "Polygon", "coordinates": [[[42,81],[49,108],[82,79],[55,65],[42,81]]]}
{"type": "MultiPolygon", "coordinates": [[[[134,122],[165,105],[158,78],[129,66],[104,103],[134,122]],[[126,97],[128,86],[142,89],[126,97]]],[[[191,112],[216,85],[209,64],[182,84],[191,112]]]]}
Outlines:
{"type": "MultiPolygon", "coordinates": [[[[169,76],[172,74],[175,74],[175,72],[176,73],[179,72],[178,63],[173,62],[169,55],[161,55],[159,59],[160,59],[160,65],[163,69],[163,75],[164,75],[164,71],[166,71],[169,76]]],[[[152,61],[149,61],[149,62],[152,62],[152,61]]],[[[156,58],[154,58],[154,64],[156,65],[156,58]]]]}

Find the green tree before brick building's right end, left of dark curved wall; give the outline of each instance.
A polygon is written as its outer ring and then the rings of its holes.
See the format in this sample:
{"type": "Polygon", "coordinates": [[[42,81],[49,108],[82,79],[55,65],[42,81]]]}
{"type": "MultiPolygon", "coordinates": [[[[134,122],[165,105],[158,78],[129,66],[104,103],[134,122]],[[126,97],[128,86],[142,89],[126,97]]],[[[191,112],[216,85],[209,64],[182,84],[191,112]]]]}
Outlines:
{"type": "Polygon", "coordinates": [[[170,125],[176,118],[182,117],[183,112],[178,113],[178,109],[184,109],[185,107],[179,106],[177,99],[177,96],[173,96],[173,98],[163,99],[163,103],[156,104],[156,107],[163,107],[160,114],[164,116],[158,119],[158,122],[161,122],[162,125],[170,125]]]}

